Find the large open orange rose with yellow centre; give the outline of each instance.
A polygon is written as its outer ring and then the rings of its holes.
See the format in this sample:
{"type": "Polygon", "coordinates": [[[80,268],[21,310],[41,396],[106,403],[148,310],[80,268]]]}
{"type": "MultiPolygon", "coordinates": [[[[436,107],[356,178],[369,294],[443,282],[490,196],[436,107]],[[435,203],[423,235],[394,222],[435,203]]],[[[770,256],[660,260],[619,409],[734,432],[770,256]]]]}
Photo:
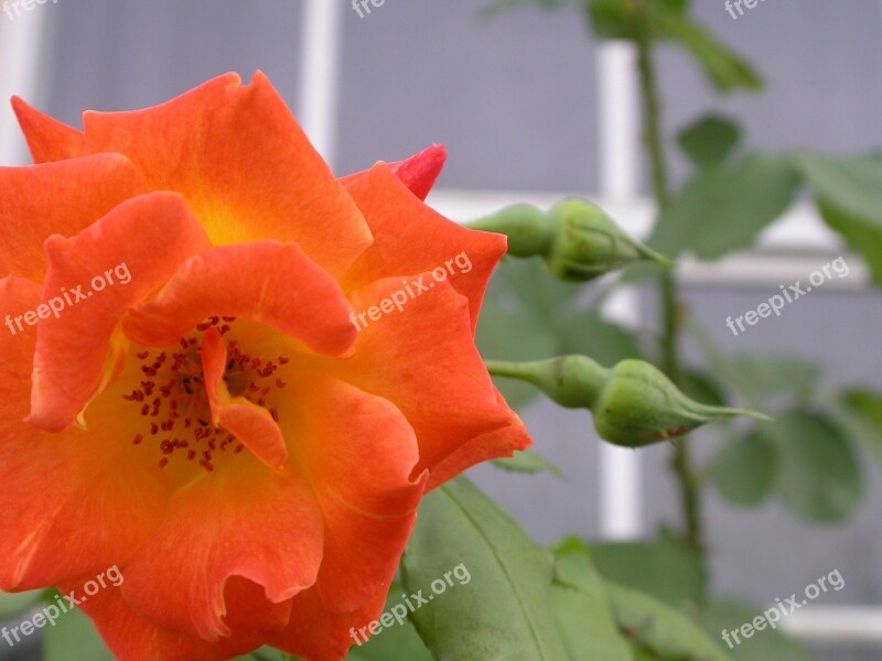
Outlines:
{"type": "Polygon", "coordinates": [[[0,588],[123,660],[343,658],[427,488],[529,444],[474,346],[504,238],[422,203],[440,147],[334,180],[259,73],[82,132],[13,105],[0,588]]]}

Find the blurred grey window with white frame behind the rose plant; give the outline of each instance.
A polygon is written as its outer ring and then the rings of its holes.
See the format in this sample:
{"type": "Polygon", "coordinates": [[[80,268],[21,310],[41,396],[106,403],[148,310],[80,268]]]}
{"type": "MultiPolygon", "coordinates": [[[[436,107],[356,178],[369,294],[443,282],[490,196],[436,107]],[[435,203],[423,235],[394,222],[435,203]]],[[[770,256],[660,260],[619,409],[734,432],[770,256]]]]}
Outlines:
{"type": "MultiPolygon", "coordinates": [[[[763,72],[767,90],[718,97],[684,55],[663,52],[669,134],[719,110],[738,117],[747,144],[763,150],[880,147],[882,3],[773,0],[738,20],[722,0],[695,4],[700,22],[763,72]]],[[[627,52],[592,42],[573,11],[490,20],[481,17],[485,6],[385,0],[359,18],[346,0],[49,0],[14,18],[0,13],[0,91],[79,127],[84,109],[141,108],[227,71],[247,80],[262,69],[340,174],[441,142],[450,160],[429,202],[455,220],[581,195],[645,235],[652,208],[636,155],[634,82],[622,66],[627,52]]],[[[3,164],[28,162],[7,106],[0,155],[3,164]]],[[[674,171],[681,181],[685,162],[674,171]]],[[[797,203],[755,250],[711,264],[687,261],[687,303],[728,351],[811,356],[831,384],[880,389],[882,297],[869,289],[860,259],[843,250],[811,207],[797,203]],[[849,278],[741,336],[725,327],[729,315],[843,253],[849,278]]],[[[635,288],[607,314],[652,325],[655,307],[654,292],[635,288]]],[[[613,454],[595,438],[589,413],[545,401],[523,416],[539,453],[563,467],[566,479],[493,467],[473,474],[537,541],[572,532],[638,537],[676,520],[665,447],[613,454]]],[[[712,433],[702,437],[713,446],[712,433]]],[[[845,525],[804,523],[777,505],[709,505],[718,593],[767,604],[840,571],[845,589],[787,622],[825,660],[882,659],[882,474],[869,453],[861,459],[867,496],[845,525]]],[[[0,659],[39,658],[23,646],[14,652],[0,641],[0,659]]]]}

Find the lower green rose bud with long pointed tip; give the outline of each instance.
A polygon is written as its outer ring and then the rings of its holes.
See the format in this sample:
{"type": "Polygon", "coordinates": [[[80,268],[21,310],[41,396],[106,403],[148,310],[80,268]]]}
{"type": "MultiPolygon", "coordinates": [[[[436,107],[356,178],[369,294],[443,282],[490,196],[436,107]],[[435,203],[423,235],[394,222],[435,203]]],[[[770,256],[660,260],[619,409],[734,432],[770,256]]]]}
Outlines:
{"type": "Polygon", "coordinates": [[[601,438],[642,447],[686,434],[702,424],[754,411],[709,407],[686,397],[662,371],[643,360],[612,369],[585,356],[536,362],[487,362],[491,373],[528,381],[562,407],[589,409],[601,438]]]}

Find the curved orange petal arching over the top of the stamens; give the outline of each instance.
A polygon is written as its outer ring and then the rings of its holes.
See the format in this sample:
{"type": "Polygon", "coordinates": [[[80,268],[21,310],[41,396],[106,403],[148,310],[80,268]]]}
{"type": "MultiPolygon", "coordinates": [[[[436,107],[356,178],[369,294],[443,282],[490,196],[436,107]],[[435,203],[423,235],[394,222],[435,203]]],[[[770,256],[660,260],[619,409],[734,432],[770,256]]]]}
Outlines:
{"type": "Polygon", "coordinates": [[[334,356],[355,342],[351,312],[336,281],[300,248],[260,241],[191,259],[153,301],[131,311],[125,328],[139,344],[159,347],[205,317],[247,317],[334,356]]]}

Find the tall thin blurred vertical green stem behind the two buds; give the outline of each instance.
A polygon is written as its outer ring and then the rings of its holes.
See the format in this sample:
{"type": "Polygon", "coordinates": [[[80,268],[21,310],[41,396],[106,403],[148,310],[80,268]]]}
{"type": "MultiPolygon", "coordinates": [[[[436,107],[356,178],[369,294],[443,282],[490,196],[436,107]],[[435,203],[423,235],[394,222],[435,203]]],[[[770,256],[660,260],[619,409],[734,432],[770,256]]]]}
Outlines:
{"type": "MultiPolygon", "coordinates": [[[[644,139],[652,165],[653,191],[659,213],[670,202],[665,147],[662,139],[662,108],[658,82],[653,62],[653,35],[646,0],[633,0],[637,43],[637,68],[641,99],[644,108],[644,139]]],[[[679,356],[680,305],[677,280],[673,270],[660,275],[662,299],[662,368],[674,383],[682,384],[679,356]]],[[[701,480],[693,466],[689,441],[682,438],[674,447],[671,468],[678,483],[680,506],[685,520],[685,540],[699,553],[704,551],[701,516],[701,480]]]]}

